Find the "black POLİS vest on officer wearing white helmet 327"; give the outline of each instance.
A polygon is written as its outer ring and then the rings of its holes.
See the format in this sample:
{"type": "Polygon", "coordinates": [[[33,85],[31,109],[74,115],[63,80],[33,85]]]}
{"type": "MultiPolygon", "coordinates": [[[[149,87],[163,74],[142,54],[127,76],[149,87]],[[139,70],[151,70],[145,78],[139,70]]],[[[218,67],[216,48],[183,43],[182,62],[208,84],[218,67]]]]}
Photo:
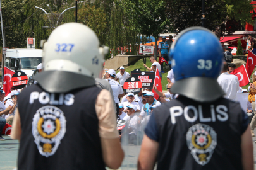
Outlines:
{"type": "Polygon", "coordinates": [[[37,84],[24,89],[18,169],[105,169],[95,113],[100,91],[92,86],[53,94],[37,84]]]}

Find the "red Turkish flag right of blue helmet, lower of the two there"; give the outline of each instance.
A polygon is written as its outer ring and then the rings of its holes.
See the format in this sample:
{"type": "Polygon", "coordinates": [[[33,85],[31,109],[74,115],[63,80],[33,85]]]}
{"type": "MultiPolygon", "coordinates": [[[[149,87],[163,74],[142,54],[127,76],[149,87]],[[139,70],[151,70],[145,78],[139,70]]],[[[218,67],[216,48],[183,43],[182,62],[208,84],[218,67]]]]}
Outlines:
{"type": "Polygon", "coordinates": [[[250,81],[248,74],[247,74],[247,70],[245,69],[245,65],[241,65],[240,67],[235,69],[230,74],[233,74],[238,77],[240,87],[247,85],[250,81]]]}

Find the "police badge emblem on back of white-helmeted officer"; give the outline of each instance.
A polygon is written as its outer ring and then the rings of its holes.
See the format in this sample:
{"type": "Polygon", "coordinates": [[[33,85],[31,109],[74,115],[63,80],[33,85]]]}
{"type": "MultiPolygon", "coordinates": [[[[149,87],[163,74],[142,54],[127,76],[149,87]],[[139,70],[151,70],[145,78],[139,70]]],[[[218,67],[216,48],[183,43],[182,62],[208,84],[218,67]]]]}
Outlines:
{"type": "Polygon", "coordinates": [[[44,106],[37,110],[32,122],[35,144],[42,156],[52,156],[66,133],[66,118],[59,108],[44,106]]]}

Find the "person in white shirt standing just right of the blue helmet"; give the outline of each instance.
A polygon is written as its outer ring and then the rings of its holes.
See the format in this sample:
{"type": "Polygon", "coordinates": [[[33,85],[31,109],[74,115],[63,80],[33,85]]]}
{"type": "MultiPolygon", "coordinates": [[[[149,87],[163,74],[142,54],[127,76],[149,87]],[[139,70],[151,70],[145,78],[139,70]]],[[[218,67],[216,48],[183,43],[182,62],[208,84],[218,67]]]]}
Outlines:
{"type": "Polygon", "coordinates": [[[226,93],[226,95],[224,95],[224,98],[235,101],[236,92],[239,90],[238,77],[236,77],[235,75],[229,74],[227,71],[228,71],[228,63],[224,62],[222,73],[218,77],[217,82],[219,82],[219,86],[221,86],[223,91],[226,93]]]}

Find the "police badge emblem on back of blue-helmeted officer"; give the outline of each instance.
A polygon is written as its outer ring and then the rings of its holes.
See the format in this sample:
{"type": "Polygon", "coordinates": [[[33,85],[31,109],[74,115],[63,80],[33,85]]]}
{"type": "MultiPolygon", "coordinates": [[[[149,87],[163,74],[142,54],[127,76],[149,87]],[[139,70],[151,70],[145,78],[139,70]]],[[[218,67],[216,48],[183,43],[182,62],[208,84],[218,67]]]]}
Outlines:
{"type": "Polygon", "coordinates": [[[209,125],[193,125],[186,133],[186,144],[195,161],[204,166],[210,161],[217,145],[217,134],[209,125]]]}

